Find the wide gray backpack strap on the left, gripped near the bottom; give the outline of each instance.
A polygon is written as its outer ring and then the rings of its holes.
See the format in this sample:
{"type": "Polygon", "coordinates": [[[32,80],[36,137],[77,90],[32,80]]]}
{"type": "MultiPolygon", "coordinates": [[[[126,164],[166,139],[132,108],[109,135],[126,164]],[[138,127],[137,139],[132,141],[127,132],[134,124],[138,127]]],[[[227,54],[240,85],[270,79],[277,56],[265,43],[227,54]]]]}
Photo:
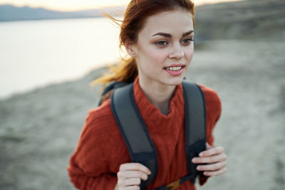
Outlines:
{"type": "Polygon", "coordinates": [[[133,83],[114,90],[111,107],[115,121],[128,147],[130,159],[132,162],[145,165],[151,171],[147,181],[142,181],[140,184],[140,189],[145,189],[157,174],[157,152],[135,103],[133,83]]]}

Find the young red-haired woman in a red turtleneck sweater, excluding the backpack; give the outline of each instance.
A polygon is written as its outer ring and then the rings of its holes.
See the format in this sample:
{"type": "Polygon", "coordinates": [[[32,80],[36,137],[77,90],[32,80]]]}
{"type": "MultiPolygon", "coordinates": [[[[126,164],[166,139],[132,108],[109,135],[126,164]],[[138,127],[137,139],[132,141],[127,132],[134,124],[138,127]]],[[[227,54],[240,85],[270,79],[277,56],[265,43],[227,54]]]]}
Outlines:
{"type": "MultiPolygon", "coordinates": [[[[130,55],[97,83],[134,83],[133,93],[155,144],[158,171],[147,189],[167,186],[187,175],[185,111],[182,80],[192,60],[194,4],[190,0],[131,0],[121,25],[120,45],[130,55]]],[[[199,184],[226,171],[222,147],[214,147],[212,130],[221,113],[217,93],[199,85],[207,111],[207,149],[192,159],[199,184]]],[[[90,110],[68,167],[78,189],[140,189],[150,169],[130,163],[124,139],[115,122],[110,99],[90,110]]],[[[177,189],[195,189],[185,181],[177,189]]]]}

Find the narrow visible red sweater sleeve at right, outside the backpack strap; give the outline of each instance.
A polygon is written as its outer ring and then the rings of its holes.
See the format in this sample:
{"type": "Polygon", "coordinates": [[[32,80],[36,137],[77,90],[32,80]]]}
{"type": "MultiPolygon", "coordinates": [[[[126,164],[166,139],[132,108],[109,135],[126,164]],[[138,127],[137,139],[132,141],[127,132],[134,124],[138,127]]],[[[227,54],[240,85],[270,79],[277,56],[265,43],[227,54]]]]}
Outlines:
{"type": "MultiPolygon", "coordinates": [[[[222,102],[219,99],[217,93],[211,88],[207,88],[205,86],[199,85],[204,93],[204,99],[206,104],[206,112],[207,112],[207,142],[213,146],[214,145],[214,135],[213,130],[215,125],[217,124],[219,117],[222,112],[222,102]]],[[[203,174],[199,175],[199,184],[202,186],[206,183],[208,176],[204,176],[203,174]]]]}

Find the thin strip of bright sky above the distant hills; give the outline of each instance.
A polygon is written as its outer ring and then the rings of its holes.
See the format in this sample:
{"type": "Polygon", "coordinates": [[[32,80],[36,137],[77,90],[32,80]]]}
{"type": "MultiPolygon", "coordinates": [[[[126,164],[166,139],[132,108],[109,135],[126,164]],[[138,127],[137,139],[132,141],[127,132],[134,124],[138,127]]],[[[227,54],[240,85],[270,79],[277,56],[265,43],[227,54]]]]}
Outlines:
{"type": "MultiPolygon", "coordinates": [[[[196,5],[214,4],[224,1],[238,0],[194,0],[196,5]]],[[[240,0],[239,0],[240,1],[240,0]]],[[[78,11],[83,9],[97,9],[105,6],[127,5],[130,0],[0,0],[0,4],[14,6],[31,6],[52,9],[56,11],[78,11]]]]}

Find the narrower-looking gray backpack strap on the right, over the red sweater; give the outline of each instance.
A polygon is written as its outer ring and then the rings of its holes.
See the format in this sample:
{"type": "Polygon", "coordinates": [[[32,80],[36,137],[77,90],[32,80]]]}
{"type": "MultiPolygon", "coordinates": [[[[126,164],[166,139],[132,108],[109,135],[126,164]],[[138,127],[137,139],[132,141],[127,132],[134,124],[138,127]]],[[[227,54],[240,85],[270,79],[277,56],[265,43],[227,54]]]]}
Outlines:
{"type": "Polygon", "coordinates": [[[189,179],[194,184],[199,171],[196,169],[197,164],[192,163],[192,158],[198,157],[199,153],[206,149],[206,105],[204,93],[198,85],[183,80],[182,86],[185,101],[187,167],[189,179]]]}

